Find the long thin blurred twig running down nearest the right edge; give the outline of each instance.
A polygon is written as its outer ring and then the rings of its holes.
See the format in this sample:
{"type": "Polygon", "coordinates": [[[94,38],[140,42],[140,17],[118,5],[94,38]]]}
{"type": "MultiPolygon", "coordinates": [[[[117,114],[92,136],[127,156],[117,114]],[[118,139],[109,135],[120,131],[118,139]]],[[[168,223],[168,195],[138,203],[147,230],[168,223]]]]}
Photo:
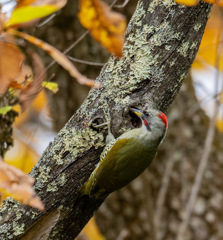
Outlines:
{"type": "MultiPolygon", "coordinates": [[[[221,33],[221,41],[223,38],[223,34],[221,33]]],[[[220,41],[218,41],[220,42],[220,41]]],[[[220,76],[220,57],[221,57],[221,46],[220,44],[218,45],[218,49],[217,49],[217,59],[216,59],[216,69],[218,70],[216,73],[216,92],[218,91],[218,82],[219,82],[219,76],[220,76]]],[[[183,218],[182,223],[180,224],[179,227],[179,231],[177,234],[177,240],[181,240],[183,239],[185,230],[189,224],[191,215],[193,213],[193,208],[194,208],[194,204],[196,202],[200,187],[201,187],[201,182],[203,179],[203,175],[205,172],[205,169],[207,167],[207,163],[208,163],[208,158],[211,152],[211,146],[212,146],[212,142],[214,139],[214,134],[215,134],[215,123],[216,123],[216,119],[217,119],[217,113],[218,113],[218,109],[219,109],[219,102],[216,99],[215,104],[214,104],[214,114],[213,117],[210,120],[210,124],[208,127],[208,131],[207,131],[207,135],[206,135],[206,139],[205,139],[205,144],[204,144],[204,150],[203,150],[203,154],[201,156],[201,160],[200,160],[200,164],[198,166],[198,171],[195,177],[195,181],[194,184],[192,186],[192,190],[191,190],[191,194],[189,197],[189,200],[187,202],[186,205],[186,211],[185,211],[185,215],[183,218]]]]}

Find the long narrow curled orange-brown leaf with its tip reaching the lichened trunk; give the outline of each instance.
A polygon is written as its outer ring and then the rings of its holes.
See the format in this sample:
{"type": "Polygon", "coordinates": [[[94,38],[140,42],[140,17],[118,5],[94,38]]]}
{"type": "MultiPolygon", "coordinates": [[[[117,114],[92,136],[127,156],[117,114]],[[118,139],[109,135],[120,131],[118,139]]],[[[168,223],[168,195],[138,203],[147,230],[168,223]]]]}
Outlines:
{"type": "Polygon", "coordinates": [[[59,50],[57,50],[53,46],[51,46],[51,45],[41,41],[38,38],[35,38],[33,36],[30,36],[30,35],[28,35],[26,33],[23,33],[23,32],[19,32],[19,31],[14,30],[14,29],[8,29],[7,32],[10,33],[10,34],[19,36],[21,38],[24,38],[25,40],[31,42],[32,44],[42,48],[52,58],[54,58],[54,60],[57,63],[59,63],[64,69],[66,69],[70,73],[70,75],[72,77],[76,78],[77,81],[80,84],[85,84],[87,86],[95,87],[95,88],[101,87],[101,84],[99,82],[96,82],[96,81],[93,81],[91,79],[88,79],[87,77],[85,77],[82,74],[80,74],[78,72],[78,70],[74,67],[72,62],[63,53],[61,53],[59,50]]]}

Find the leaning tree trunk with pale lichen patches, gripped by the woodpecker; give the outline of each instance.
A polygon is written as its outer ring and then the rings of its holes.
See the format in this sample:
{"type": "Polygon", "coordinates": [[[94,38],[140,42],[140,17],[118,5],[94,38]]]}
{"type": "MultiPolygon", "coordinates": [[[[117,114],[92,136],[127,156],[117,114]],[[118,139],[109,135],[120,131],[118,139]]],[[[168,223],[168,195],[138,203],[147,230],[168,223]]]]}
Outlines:
{"type": "Polygon", "coordinates": [[[77,198],[104,147],[106,130],[92,119],[111,116],[117,137],[132,127],[129,107],[166,111],[197,53],[211,6],[140,0],[126,33],[123,57],[111,57],[77,113],[45,150],[31,175],[45,204],[41,213],[8,200],[1,208],[1,239],[73,239],[103,199],[77,198]]]}

